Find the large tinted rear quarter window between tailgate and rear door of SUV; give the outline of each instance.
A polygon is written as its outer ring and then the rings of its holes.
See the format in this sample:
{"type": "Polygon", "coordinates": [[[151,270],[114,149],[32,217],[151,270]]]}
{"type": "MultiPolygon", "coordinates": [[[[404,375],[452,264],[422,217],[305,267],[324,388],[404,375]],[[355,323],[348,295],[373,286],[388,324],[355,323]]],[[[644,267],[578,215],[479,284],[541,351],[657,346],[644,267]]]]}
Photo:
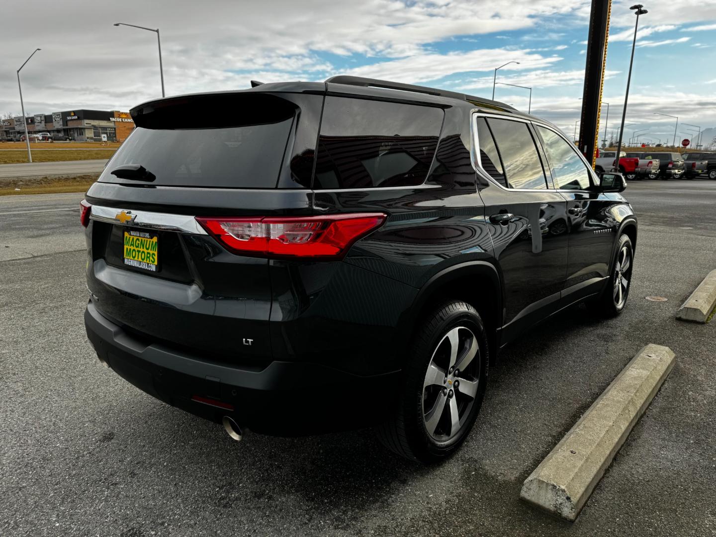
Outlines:
{"type": "Polygon", "coordinates": [[[424,183],[444,116],[435,107],[326,97],[313,188],[424,183]]]}

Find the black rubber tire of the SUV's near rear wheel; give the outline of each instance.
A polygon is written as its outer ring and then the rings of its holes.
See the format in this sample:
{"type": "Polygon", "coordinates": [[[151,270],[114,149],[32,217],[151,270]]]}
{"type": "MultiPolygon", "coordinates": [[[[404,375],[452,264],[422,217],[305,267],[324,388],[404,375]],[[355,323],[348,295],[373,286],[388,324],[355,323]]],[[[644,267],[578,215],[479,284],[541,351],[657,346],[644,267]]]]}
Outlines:
{"type": "MultiPolygon", "coordinates": [[[[452,340],[448,341],[447,346],[448,354],[445,355],[445,359],[449,362],[452,340]]],[[[480,314],[473,306],[463,301],[450,301],[443,304],[418,324],[409,352],[397,406],[392,415],[376,428],[376,432],[382,444],[398,455],[424,464],[436,463],[450,457],[460,448],[473,428],[485,396],[489,361],[488,339],[480,314]],[[456,346],[458,347],[455,352],[456,365],[465,362],[470,349],[473,349],[473,343],[478,348],[474,357],[468,360],[467,369],[459,372],[459,378],[450,374],[450,378],[453,378],[450,381],[453,389],[446,394],[448,381],[442,381],[444,384],[442,387],[437,384],[426,384],[430,376],[428,367],[431,367],[433,372],[436,369],[442,372],[442,369],[435,367],[438,363],[437,359],[446,350],[445,339],[449,337],[448,334],[455,333],[464,334],[460,337],[465,337],[465,339],[458,337],[460,344],[456,346]],[[470,335],[473,339],[470,339],[470,335]],[[472,399],[461,393],[459,386],[461,379],[463,384],[475,386],[475,397],[472,399]],[[473,380],[466,382],[468,379],[473,380]],[[440,406],[437,418],[432,420],[432,418],[428,419],[427,414],[430,412],[426,413],[424,406],[426,402],[430,402],[430,395],[435,393],[437,393],[435,404],[431,405],[430,409],[433,417],[439,406],[438,399],[442,401],[443,406],[440,406]],[[445,418],[450,421],[453,407],[459,416],[458,430],[453,434],[451,425],[450,433],[445,435],[445,440],[440,440],[439,432],[443,430],[440,427],[446,428],[450,425],[445,422],[445,418]],[[460,408],[463,409],[461,417],[460,408]],[[437,425],[432,432],[427,429],[430,422],[437,425]]],[[[448,367],[445,369],[451,370],[448,367]]]]}

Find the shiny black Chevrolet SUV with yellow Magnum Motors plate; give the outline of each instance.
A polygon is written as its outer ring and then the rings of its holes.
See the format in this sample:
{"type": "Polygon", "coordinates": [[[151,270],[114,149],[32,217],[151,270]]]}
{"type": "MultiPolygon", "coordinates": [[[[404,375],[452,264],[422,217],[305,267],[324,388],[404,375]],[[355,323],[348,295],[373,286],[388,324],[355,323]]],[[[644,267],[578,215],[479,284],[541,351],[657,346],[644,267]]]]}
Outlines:
{"type": "Polygon", "coordinates": [[[430,462],[465,439],[524,329],[627,301],[637,221],[556,127],[356,77],[135,107],[82,202],[100,361],[195,415],[376,427],[430,462]]]}

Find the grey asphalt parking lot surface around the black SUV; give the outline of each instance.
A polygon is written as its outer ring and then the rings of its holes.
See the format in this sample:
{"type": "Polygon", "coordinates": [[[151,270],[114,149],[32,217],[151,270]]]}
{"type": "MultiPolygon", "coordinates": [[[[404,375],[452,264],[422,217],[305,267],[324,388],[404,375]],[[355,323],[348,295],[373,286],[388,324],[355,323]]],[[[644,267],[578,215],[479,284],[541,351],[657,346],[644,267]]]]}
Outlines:
{"type": "Polygon", "coordinates": [[[576,306],[506,349],[463,449],[431,468],[369,430],[234,442],[136,390],[84,335],[82,195],[0,198],[0,534],[716,534],[716,323],[674,319],[716,268],[716,181],[644,180],[625,195],[639,239],[624,314],[576,306]],[[576,523],[518,500],[649,342],[677,364],[576,523]]]}

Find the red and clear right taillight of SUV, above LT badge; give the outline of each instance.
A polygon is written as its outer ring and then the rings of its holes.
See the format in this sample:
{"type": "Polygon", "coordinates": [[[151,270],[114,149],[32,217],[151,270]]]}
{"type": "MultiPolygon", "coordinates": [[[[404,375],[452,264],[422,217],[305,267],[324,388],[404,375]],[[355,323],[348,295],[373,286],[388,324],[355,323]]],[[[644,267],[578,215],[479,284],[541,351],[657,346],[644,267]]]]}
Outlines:
{"type": "Polygon", "coordinates": [[[276,258],[341,258],[359,238],[382,225],[382,213],[333,216],[200,218],[229,251],[276,258]]]}

